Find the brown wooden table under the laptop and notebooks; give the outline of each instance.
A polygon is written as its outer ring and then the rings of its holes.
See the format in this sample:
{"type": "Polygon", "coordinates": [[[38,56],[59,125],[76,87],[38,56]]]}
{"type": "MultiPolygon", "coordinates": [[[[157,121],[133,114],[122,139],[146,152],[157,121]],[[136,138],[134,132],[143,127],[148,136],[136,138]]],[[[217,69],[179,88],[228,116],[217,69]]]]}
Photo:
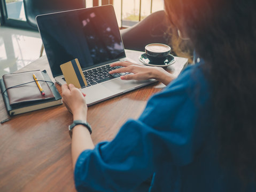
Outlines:
{"type": "MultiPolygon", "coordinates": [[[[127,55],[141,52],[127,50],[127,55]]],[[[178,75],[185,58],[176,58],[168,69],[178,75]]],[[[37,59],[19,71],[46,69],[46,57],[37,59]]],[[[61,92],[60,86],[56,84],[61,92]]],[[[149,97],[162,89],[153,83],[88,108],[92,140],[112,140],[128,118],[137,118],[149,97]]],[[[7,118],[0,97],[0,121],[7,118]]],[[[75,191],[71,139],[68,125],[72,115],[63,105],[12,117],[0,126],[0,191],[75,191]]]]}

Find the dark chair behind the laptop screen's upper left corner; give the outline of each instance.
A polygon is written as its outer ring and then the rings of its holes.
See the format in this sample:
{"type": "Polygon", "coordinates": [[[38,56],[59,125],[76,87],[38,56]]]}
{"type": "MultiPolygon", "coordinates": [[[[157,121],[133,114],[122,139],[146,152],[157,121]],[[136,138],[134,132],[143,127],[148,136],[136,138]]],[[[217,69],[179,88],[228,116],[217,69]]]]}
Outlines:
{"type": "MultiPolygon", "coordinates": [[[[85,0],[23,0],[28,24],[37,30],[36,16],[40,14],[81,9],[86,7],[85,0]]],[[[43,54],[43,44],[40,57],[43,54]]]]}

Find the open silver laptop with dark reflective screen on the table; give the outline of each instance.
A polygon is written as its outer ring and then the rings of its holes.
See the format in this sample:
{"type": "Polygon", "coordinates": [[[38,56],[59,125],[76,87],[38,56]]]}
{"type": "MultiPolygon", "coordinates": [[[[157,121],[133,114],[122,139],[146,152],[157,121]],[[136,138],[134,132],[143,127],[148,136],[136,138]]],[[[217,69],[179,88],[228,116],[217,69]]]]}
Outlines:
{"type": "Polygon", "coordinates": [[[61,64],[79,60],[88,83],[81,89],[88,105],[156,81],[123,81],[125,73],[108,74],[114,69],[111,63],[138,59],[126,57],[112,5],[38,15],[36,21],[56,82],[66,84],[61,64]]]}

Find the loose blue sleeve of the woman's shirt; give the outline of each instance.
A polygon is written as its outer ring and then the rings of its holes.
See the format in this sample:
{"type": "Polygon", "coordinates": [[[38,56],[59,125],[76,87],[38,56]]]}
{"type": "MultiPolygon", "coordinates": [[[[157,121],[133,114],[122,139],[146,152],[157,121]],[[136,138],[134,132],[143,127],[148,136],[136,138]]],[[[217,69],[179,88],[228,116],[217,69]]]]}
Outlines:
{"type": "Polygon", "coordinates": [[[130,191],[165,162],[191,162],[198,109],[190,80],[185,70],[149,100],[139,119],[129,119],[113,141],[83,151],[75,165],[77,191],[130,191]]]}

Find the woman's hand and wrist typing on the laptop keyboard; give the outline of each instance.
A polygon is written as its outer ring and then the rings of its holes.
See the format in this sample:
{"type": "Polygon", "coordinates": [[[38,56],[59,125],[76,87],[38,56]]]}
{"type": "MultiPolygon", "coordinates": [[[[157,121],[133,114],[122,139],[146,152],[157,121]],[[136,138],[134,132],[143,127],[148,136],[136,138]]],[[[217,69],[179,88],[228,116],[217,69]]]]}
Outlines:
{"type": "Polygon", "coordinates": [[[156,79],[157,81],[168,85],[171,81],[173,81],[173,79],[175,79],[172,74],[168,73],[161,67],[142,66],[128,61],[113,63],[110,66],[122,66],[122,68],[110,71],[110,74],[125,72],[132,73],[121,76],[121,79],[123,80],[135,79],[142,81],[147,79],[156,79]]]}

